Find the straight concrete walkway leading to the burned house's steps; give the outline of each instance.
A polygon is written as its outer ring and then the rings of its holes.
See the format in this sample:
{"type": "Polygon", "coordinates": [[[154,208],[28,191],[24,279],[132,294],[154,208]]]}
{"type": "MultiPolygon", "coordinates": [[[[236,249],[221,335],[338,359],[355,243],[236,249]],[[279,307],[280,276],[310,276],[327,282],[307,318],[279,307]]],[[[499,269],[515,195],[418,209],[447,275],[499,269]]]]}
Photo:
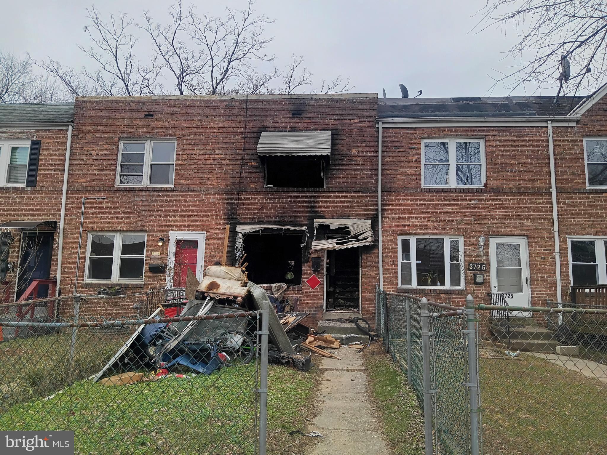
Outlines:
{"type": "Polygon", "coordinates": [[[323,371],[319,391],[320,414],[310,431],[324,438],[308,455],[387,455],[379,423],[371,415],[367,397],[367,373],[356,349],[343,346],[333,351],[342,360],[314,357],[323,371]]]}

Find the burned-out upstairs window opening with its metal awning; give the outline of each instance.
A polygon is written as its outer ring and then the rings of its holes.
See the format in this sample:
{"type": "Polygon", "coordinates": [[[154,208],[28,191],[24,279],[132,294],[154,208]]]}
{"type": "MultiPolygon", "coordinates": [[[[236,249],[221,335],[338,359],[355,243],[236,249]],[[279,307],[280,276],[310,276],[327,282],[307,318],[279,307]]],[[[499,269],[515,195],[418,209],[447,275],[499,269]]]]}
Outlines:
{"type": "Polygon", "coordinates": [[[266,187],[324,188],[331,132],[264,131],[257,155],[265,167],[266,187]]]}

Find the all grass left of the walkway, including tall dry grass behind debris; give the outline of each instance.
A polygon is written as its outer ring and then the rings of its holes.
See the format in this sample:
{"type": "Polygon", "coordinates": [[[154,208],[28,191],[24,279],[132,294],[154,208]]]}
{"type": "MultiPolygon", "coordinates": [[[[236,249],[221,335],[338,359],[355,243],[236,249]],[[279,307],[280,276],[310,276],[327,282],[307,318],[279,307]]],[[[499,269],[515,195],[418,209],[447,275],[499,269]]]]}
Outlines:
{"type": "MultiPolygon", "coordinates": [[[[124,337],[99,340],[81,334],[71,369],[67,334],[0,344],[2,364],[10,365],[0,374],[5,387],[0,430],[73,430],[80,454],[254,453],[254,362],[191,380],[104,386],[80,379],[98,371],[124,337]]],[[[288,433],[305,433],[305,419],[314,414],[316,379],[316,369],[270,365],[268,453],[293,454],[304,446],[305,437],[288,433]]]]}

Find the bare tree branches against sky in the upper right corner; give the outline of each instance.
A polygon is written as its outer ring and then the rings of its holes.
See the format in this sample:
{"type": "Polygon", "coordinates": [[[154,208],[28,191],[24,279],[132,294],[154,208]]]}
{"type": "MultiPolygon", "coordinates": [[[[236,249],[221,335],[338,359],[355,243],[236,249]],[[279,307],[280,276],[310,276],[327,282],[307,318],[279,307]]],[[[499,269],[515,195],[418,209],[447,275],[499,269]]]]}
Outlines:
{"type": "MultiPolygon", "coordinates": [[[[554,89],[592,92],[605,83],[607,3],[604,0],[495,0],[480,11],[476,33],[488,27],[512,30],[520,40],[506,53],[519,63],[493,78],[510,92],[554,89]],[[569,82],[560,78],[563,56],[571,66],[569,82]]],[[[494,87],[495,87],[494,86],[494,87]]]]}

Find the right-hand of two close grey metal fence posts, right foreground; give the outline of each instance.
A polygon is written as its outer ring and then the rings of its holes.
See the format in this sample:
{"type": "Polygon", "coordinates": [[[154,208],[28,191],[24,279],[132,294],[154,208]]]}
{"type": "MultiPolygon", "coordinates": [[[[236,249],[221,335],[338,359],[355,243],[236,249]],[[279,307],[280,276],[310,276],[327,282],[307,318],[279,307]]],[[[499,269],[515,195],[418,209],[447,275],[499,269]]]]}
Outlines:
{"type": "Polygon", "coordinates": [[[478,371],[476,369],[476,312],[474,309],[474,298],[468,294],[466,297],[466,330],[468,347],[468,394],[470,397],[470,453],[478,455],[478,371]]]}

